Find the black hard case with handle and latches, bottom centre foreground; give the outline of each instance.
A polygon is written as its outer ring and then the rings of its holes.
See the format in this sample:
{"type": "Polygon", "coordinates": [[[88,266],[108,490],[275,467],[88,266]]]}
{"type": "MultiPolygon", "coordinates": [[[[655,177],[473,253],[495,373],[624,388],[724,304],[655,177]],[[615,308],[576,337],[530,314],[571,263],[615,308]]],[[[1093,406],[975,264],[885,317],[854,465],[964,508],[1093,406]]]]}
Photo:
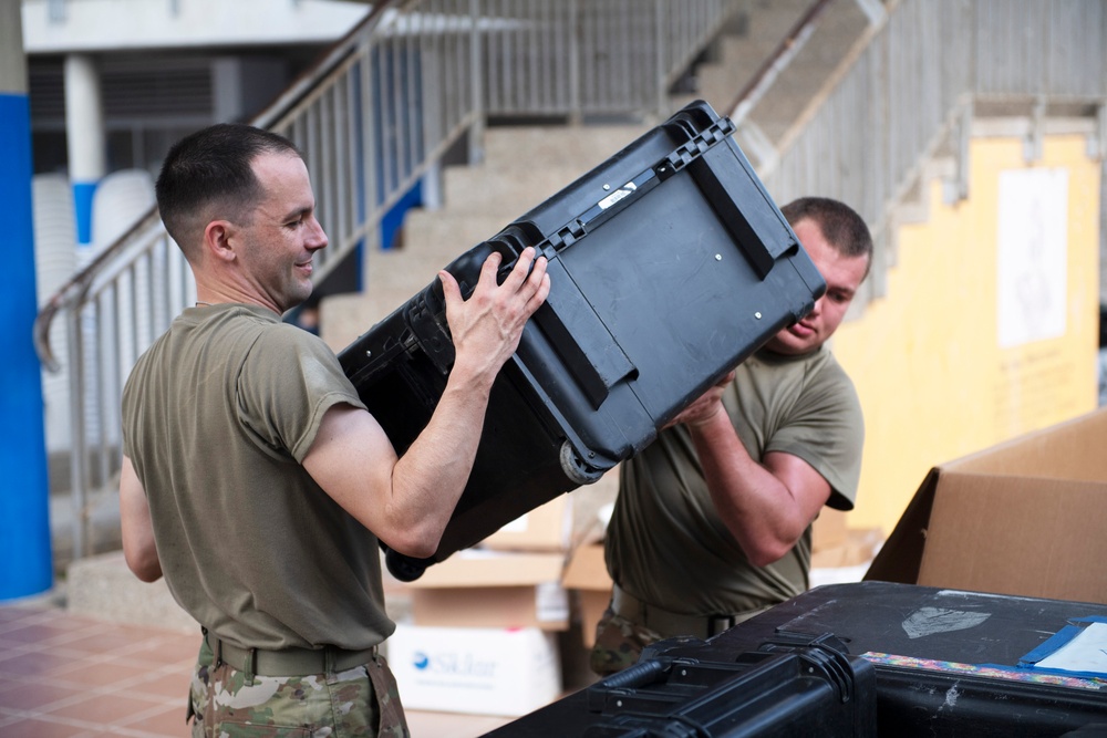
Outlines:
{"type": "MultiPolygon", "coordinates": [[[[586,699],[594,721],[579,735],[877,735],[876,669],[848,656],[830,634],[778,634],[756,651],[726,659],[714,658],[707,643],[693,638],[677,653],[671,644],[680,641],[655,644],[631,668],[589,687],[586,699]]],[[[520,727],[490,735],[527,735],[520,727]]]]}

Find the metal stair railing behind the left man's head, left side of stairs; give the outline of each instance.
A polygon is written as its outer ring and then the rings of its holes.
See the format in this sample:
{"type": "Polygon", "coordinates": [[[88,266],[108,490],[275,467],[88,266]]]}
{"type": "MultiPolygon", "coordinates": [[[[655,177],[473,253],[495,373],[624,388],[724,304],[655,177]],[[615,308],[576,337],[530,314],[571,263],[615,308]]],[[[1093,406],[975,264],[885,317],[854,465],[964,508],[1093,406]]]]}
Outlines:
{"type": "MultiPolygon", "coordinates": [[[[325,279],[463,136],[489,117],[664,115],[665,93],[748,0],[407,0],[365,21],[252,122],[304,153],[330,247],[325,279]]],[[[195,301],[184,258],[151,211],[48,300],[35,322],[58,371],[65,326],[74,558],[90,552],[91,496],[114,491],[118,406],[138,355],[195,301]]]]}

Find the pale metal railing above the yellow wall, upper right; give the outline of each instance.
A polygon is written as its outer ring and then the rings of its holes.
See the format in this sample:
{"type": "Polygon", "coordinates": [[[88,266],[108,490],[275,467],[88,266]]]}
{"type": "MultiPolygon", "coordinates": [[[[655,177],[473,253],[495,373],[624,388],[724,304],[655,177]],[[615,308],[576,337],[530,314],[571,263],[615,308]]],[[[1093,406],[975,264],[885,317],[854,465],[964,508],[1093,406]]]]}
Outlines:
{"type": "Polygon", "coordinates": [[[869,297],[886,289],[894,208],[951,138],[962,156],[952,184],[966,195],[974,110],[1044,115],[1052,106],[1098,116],[1103,126],[1107,101],[1103,0],[890,0],[886,8],[828,94],[759,169],[777,201],[818,193],[858,209],[878,239],[869,297]]]}

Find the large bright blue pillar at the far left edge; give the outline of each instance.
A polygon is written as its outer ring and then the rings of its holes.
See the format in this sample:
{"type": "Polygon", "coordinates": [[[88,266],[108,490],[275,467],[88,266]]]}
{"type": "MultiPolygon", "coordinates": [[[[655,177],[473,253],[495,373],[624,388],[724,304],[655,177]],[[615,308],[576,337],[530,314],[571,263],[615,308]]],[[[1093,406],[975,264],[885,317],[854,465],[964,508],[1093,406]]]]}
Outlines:
{"type": "Polygon", "coordinates": [[[0,202],[8,281],[0,290],[0,601],[53,585],[42,377],[34,353],[31,108],[20,0],[0,0],[0,202]]]}

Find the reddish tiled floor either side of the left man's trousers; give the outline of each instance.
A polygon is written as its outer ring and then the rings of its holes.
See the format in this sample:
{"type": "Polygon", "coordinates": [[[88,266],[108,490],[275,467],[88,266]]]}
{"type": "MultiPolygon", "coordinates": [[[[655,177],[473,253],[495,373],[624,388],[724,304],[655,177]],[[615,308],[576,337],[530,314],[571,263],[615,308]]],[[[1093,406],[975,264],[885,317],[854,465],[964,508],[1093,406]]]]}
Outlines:
{"type": "MultiPolygon", "coordinates": [[[[38,605],[0,605],[0,736],[188,736],[199,634],[118,625],[38,605]]],[[[506,718],[408,713],[414,738],[474,738],[506,718]]]]}

